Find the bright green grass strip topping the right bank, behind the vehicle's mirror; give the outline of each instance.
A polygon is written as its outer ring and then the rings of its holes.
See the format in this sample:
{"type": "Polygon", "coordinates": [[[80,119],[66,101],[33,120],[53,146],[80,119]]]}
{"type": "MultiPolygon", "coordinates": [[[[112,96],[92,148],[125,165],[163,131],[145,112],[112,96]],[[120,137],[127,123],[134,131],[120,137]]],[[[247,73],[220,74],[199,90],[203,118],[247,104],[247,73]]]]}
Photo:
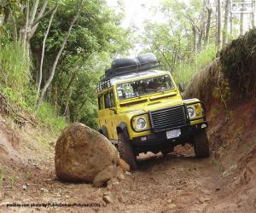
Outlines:
{"type": "Polygon", "coordinates": [[[177,83],[189,83],[196,72],[207,66],[215,58],[216,53],[217,51],[214,45],[207,46],[201,53],[195,55],[193,62],[184,63],[183,65],[176,67],[176,70],[172,73],[173,78],[177,83]]]}

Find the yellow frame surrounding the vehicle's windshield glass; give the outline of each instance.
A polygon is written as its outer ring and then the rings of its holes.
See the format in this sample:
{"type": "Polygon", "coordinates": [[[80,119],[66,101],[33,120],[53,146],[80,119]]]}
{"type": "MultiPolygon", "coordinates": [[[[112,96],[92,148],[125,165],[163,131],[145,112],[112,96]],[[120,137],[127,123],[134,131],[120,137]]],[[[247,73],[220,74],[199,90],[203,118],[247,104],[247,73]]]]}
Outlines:
{"type": "Polygon", "coordinates": [[[131,99],[141,98],[141,97],[147,96],[147,95],[154,95],[154,94],[158,94],[158,93],[165,93],[165,92],[172,91],[172,90],[175,90],[175,89],[176,89],[176,84],[174,83],[174,81],[173,81],[173,79],[172,79],[172,76],[170,76],[170,74],[167,74],[167,73],[166,73],[166,74],[157,75],[157,76],[148,76],[148,77],[145,77],[145,78],[132,79],[132,80],[130,80],[130,81],[124,81],[124,82],[121,82],[121,83],[117,83],[117,84],[115,85],[116,98],[117,98],[117,100],[119,100],[119,101],[127,101],[127,100],[131,100],[131,99]],[[170,82],[172,83],[172,88],[170,88],[170,89],[165,89],[165,90],[162,90],[162,91],[153,91],[152,93],[148,93],[148,94],[143,94],[143,95],[128,97],[128,98],[125,98],[125,99],[119,99],[118,87],[119,87],[119,85],[121,85],[121,84],[124,84],[124,83],[131,83],[131,82],[137,82],[137,81],[145,80],[145,79],[149,79],[149,78],[161,78],[161,77],[166,77],[166,76],[168,76],[168,77],[170,78],[170,82]]]}

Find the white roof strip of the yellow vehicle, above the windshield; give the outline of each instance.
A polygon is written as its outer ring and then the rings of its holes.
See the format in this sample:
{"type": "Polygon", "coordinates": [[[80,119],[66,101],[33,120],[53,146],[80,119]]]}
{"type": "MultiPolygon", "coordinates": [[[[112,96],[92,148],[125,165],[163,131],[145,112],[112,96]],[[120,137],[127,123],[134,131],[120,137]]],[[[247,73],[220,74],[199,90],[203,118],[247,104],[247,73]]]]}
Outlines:
{"type": "Polygon", "coordinates": [[[113,84],[116,83],[122,83],[122,82],[126,82],[126,81],[132,81],[132,80],[136,80],[137,78],[150,78],[153,77],[155,75],[164,75],[164,74],[169,74],[169,72],[167,71],[160,71],[160,70],[148,70],[148,71],[143,71],[143,72],[134,72],[134,73],[129,73],[127,75],[122,75],[122,76],[117,76],[114,78],[110,79],[110,84],[111,86],[113,86],[113,84]]]}

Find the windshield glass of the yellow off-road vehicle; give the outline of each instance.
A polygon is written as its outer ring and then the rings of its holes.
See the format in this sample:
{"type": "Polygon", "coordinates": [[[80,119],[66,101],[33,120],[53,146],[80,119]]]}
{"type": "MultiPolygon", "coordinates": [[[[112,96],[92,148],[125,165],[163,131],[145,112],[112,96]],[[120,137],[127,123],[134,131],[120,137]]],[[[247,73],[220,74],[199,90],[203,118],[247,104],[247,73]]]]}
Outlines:
{"type": "Polygon", "coordinates": [[[117,86],[117,94],[119,100],[125,100],[170,89],[174,89],[174,85],[170,76],[165,75],[119,84],[117,86]]]}

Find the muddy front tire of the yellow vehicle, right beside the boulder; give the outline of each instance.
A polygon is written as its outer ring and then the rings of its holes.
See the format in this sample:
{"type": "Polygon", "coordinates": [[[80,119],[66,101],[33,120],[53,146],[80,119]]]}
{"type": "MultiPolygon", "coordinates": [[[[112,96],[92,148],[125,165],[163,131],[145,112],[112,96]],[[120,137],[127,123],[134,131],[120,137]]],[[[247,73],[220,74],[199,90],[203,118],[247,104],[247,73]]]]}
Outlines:
{"type": "Polygon", "coordinates": [[[131,147],[131,141],[126,138],[123,132],[120,132],[118,136],[118,151],[120,158],[124,159],[127,164],[130,164],[131,170],[137,170],[137,160],[131,147]]]}

